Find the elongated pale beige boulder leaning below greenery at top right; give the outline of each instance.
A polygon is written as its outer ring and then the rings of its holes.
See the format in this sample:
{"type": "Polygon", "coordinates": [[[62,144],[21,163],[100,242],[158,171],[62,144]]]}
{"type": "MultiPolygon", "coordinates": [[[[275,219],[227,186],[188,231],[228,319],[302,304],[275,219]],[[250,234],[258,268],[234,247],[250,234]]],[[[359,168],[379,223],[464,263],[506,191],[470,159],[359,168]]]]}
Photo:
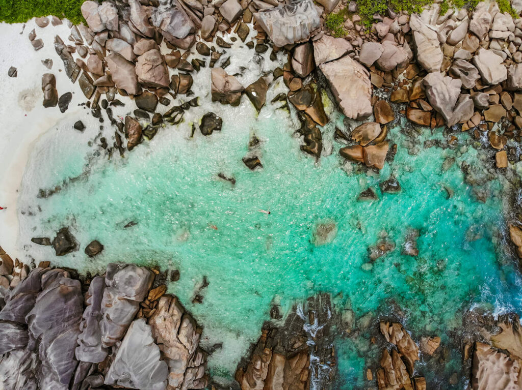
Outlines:
{"type": "Polygon", "coordinates": [[[422,21],[417,14],[410,16],[410,28],[417,49],[417,61],[428,72],[439,72],[444,54],[442,53],[436,30],[422,21]]]}

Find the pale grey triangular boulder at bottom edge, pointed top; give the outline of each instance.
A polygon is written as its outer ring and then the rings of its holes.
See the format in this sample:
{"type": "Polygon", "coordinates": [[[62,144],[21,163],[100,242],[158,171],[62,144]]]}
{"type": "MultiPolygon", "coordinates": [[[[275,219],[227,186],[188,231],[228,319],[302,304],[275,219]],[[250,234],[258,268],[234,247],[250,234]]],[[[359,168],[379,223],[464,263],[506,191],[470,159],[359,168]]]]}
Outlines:
{"type": "Polygon", "coordinates": [[[169,368],[160,360],[160,349],[144,318],[132,322],[105,376],[105,384],[164,390],[169,368]]]}

